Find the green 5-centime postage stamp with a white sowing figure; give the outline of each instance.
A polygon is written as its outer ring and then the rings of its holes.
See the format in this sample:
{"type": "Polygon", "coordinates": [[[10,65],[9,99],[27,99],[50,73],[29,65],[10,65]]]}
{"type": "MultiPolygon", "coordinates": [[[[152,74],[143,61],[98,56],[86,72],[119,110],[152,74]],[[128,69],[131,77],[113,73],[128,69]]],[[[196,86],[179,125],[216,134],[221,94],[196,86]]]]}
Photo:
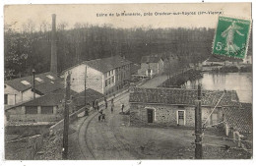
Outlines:
{"type": "Polygon", "coordinates": [[[250,20],[219,17],[213,54],[245,58],[250,37],[250,20]]]}

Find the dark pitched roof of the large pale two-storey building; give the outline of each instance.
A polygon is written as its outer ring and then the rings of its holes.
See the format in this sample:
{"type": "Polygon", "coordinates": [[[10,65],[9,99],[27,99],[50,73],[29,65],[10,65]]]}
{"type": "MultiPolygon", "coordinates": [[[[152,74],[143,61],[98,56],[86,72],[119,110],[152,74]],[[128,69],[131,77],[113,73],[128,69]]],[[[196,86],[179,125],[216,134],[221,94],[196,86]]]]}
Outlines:
{"type": "Polygon", "coordinates": [[[68,70],[75,68],[77,66],[80,66],[82,64],[88,65],[89,67],[96,69],[97,71],[101,73],[106,73],[108,71],[111,71],[115,68],[122,67],[124,65],[131,64],[132,62],[122,58],[120,56],[111,56],[107,58],[101,58],[101,59],[95,59],[95,60],[90,60],[90,61],[84,61],[80,64],[77,64],[75,66],[72,66],[71,68],[68,68],[64,71],[62,71],[61,75],[63,75],[65,72],[68,70]]]}

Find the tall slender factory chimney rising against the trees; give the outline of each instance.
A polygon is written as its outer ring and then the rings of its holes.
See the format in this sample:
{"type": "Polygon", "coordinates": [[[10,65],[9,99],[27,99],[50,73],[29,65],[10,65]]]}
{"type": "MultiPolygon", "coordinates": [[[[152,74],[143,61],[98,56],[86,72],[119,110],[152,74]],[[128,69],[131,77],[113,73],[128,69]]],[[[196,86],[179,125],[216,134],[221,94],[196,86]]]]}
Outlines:
{"type": "Polygon", "coordinates": [[[51,61],[50,72],[57,75],[57,39],[56,39],[56,15],[52,14],[52,28],[51,28],[51,61]]]}

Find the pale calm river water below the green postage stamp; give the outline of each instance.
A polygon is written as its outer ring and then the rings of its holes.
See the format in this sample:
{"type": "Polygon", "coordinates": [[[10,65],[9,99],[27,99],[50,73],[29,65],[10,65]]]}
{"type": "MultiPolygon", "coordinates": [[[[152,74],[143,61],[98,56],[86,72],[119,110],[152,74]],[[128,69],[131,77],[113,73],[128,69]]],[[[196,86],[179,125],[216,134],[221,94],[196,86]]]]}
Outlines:
{"type": "Polygon", "coordinates": [[[241,102],[252,103],[252,73],[204,73],[203,78],[182,85],[183,88],[197,88],[202,83],[203,89],[236,90],[241,102]]]}

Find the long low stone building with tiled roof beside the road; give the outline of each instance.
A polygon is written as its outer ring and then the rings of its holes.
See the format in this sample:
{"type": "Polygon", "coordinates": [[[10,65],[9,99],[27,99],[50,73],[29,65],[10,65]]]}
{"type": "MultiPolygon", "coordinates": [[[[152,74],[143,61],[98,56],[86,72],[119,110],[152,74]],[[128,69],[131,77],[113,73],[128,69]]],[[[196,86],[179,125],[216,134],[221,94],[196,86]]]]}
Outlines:
{"type": "MultiPolygon", "coordinates": [[[[130,123],[135,126],[194,127],[196,99],[196,89],[134,87],[129,100],[130,123]]],[[[238,101],[235,91],[203,90],[202,121],[208,119],[206,125],[223,121],[222,106],[231,101],[238,101]],[[222,99],[219,102],[220,98],[222,99]]]]}

